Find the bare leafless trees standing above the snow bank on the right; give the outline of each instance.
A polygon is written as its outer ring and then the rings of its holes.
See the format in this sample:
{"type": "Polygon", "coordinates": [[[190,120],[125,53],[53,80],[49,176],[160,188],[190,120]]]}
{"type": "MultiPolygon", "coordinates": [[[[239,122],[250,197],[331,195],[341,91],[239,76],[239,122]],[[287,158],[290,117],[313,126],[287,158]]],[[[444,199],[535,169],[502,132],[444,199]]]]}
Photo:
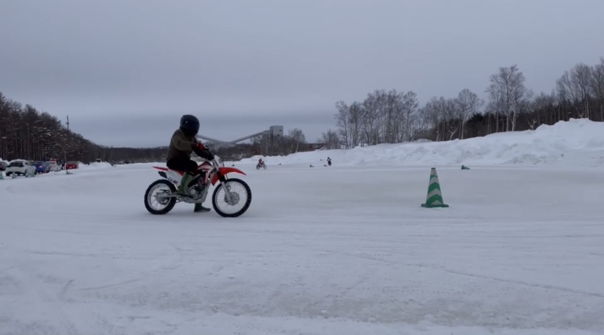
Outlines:
{"type": "Polygon", "coordinates": [[[590,66],[576,64],[550,93],[525,86],[516,65],[500,67],[484,90],[487,101],[463,89],[455,98],[434,96],[422,107],[413,91],[375,90],[363,101],[336,102],[336,129],[323,133],[326,147],[445,141],[502,131],[532,130],[571,118],[604,121],[604,57],[590,66]]]}

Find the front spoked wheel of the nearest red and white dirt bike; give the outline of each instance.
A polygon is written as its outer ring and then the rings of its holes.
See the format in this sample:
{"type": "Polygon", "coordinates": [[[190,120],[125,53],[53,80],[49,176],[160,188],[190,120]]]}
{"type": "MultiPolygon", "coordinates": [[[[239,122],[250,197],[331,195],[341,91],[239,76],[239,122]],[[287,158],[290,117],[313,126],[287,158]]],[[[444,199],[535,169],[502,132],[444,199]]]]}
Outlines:
{"type": "Polygon", "coordinates": [[[216,213],[225,218],[237,218],[245,213],[252,202],[252,191],[245,181],[232,178],[220,183],[212,195],[212,205],[216,213]],[[226,190],[229,190],[231,199],[226,197],[226,190]]]}

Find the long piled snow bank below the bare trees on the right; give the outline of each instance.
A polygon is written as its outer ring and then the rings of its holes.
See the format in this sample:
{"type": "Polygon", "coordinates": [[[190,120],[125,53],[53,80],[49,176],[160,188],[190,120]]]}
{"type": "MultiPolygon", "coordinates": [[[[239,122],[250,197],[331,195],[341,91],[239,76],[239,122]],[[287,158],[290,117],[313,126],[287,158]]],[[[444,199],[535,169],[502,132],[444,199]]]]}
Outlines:
{"type": "MultiPolygon", "coordinates": [[[[263,157],[267,164],[326,163],[342,165],[495,165],[562,163],[579,166],[604,164],[604,122],[571,119],[536,130],[497,133],[448,142],[414,142],[263,157]]],[[[258,158],[239,163],[256,163],[258,158]]]]}

